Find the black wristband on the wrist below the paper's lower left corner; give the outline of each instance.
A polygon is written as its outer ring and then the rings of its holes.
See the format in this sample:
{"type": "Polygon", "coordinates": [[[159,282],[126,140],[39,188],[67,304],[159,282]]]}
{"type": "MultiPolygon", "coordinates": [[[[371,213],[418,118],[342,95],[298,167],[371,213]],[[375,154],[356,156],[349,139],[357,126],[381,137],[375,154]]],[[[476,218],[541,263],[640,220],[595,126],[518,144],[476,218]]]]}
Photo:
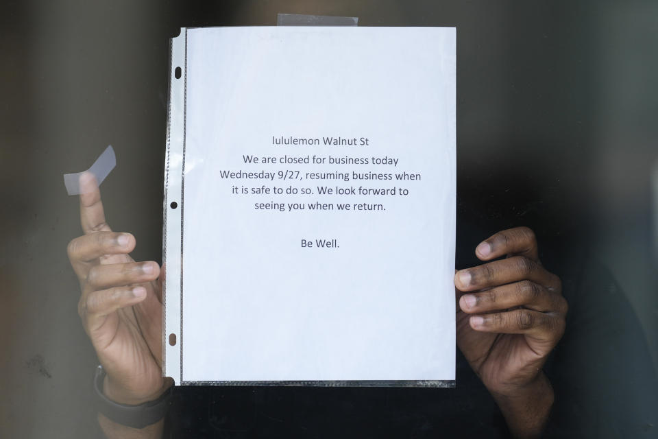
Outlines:
{"type": "Polygon", "coordinates": [[[103,393],[103,379],[105,379],[103,366],[96,368],[94,375],[94,393],[98,412],[117,424],[141,429],[164,418],[171,405],[171,386],[154,401],[147,401],[140,405],[119,404],[110,400],[103,393]]]}

